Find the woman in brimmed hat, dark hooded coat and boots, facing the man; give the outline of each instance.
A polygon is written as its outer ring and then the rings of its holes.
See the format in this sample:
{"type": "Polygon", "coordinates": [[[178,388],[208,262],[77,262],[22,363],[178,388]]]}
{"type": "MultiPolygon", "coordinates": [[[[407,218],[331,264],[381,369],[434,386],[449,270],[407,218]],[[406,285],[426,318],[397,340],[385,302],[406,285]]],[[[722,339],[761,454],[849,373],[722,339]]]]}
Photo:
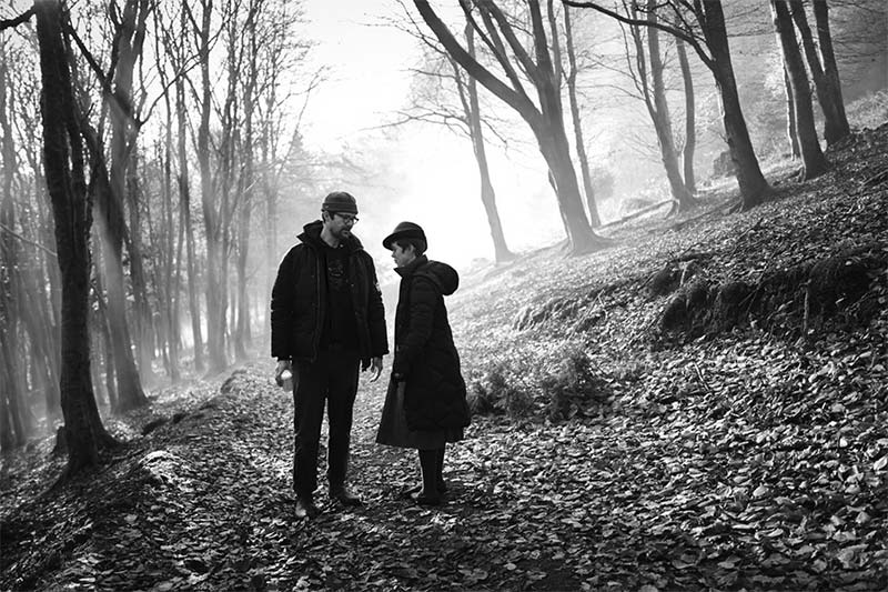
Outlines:
{"type": "Polygon", "coordinates": [[[444,307],[460,277],[446,263],[425,257],[425,232],[418,224],[401,222],[382,243],[392,251],[401,289],[392,379],[376,442],[418,451],[422,485],[411,496],[422,505],[437,505],[446,491],[444,450],[447,442],[463,439],[470,421],[444,307]]]}

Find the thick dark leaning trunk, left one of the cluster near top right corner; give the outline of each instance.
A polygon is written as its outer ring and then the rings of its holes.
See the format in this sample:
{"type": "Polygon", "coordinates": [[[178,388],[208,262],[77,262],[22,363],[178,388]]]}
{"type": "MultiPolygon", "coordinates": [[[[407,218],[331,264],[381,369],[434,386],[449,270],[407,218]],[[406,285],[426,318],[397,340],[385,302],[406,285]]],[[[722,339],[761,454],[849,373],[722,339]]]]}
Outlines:
{"type": "Polygon", "coordinates": [[[801,148],[801,162],[804,179],[814,179],[826,172],[828,163],[820,150],[817,130],[814,126],[814,107],[811,106],[811,89],[805,73],[805,63],[796,42],[796,32],[789,9],[784,0],[771,0],[774,28],[784,56],[784,64],[793,88],[793,104],[796,111],[796,136],[801,148]]]}

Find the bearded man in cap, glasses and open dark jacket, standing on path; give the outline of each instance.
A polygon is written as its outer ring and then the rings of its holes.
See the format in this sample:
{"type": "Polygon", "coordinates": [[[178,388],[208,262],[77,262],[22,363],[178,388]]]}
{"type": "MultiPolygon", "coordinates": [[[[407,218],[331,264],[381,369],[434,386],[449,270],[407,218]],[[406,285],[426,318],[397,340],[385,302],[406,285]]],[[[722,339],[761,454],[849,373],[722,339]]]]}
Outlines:
{"type": "Polygon", "coordinates": [[[271,354],[275,378],[293,372],[296,518],[317,514],[317,449],[327,407],[327,484],[331,499],[360,505],[349,492],[349,443],[359,365],[382,373],[389,353],[385,312],[373,259],[352,234],[357,203],[345,191],[324,198],[321,220],[303,228],[300,243],[278,269],[271,295],[271,354]]]}

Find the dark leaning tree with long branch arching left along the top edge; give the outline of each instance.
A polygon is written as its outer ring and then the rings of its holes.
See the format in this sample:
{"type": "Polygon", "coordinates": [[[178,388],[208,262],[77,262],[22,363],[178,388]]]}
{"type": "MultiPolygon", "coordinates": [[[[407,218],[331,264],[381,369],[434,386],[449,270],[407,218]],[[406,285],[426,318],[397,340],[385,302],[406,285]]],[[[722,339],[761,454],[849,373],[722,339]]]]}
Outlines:
{"type": "Polygon", "coordinates": [[[647,19],[632,19],[606,9],[595,2],[562,0],[565,4],[578,8],[591,8],[610,16],[627,24],[655,27],[685,41],[694,48],[700,60],[713,73],[722,98],[723,122],[727,136],[728,149],[734,160],[737,183],[740,188],[740,200],[744,210],[761,203],[770,192],[770,185],[761,173],[756,158],[749,130],[740,108],[737,81],[730,59],[727,27],[722,0],[667,0],[657,4],[658,10],[672,9],[677,24],[669,24],[667,19],[656,22],[647,19]]]}

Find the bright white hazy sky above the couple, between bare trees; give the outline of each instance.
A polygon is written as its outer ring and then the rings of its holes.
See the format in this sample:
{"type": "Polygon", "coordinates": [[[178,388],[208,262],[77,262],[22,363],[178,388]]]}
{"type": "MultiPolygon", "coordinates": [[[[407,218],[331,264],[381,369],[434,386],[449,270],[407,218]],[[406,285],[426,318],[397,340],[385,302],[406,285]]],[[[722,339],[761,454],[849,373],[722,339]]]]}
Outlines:
{"type": "MultiPolygon", "coordinates": [[[[306,109],[305,141],[327,151],[366,142],[377,134],[366,128],[391,119],[410,91],[405,70],[415,66],[415,41],[382,23],[402,9],[394,0],[309,0],[305,9],[310,34],[319,40],[315,59],[330,64],[327,81],[306,109]]],[[[377,243],[401,220],[425,228],[432,258],[460,265],[493,259],[468,140],[424,126],[403,129],[397,142],[379,142],[395,162],[390,181],[394,194],[374,198],[392,200],[394,208],[364,204],[361,188],[353,188],[362,210],[356,233],[377,262],[389,265],[389,253],[377,243]]],[[[370,144],[375,146],[373,140],[370,144]]],[[[564,232],[542,158],[532,155],[513,167],[500,151],[490,151],[509,248],[522,251],[561,240],[564,232]]]]}

